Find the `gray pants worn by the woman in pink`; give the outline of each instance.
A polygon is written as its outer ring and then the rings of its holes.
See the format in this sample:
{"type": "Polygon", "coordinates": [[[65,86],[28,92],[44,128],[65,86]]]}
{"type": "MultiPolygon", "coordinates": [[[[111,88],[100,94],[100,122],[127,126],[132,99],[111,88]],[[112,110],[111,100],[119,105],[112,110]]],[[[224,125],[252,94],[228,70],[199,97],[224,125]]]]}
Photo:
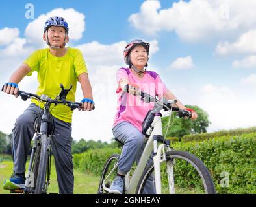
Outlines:
{"type": "MultiPolygon", "coordinates": [[[[129,122],[120,122],[112,129],[113,135],[117,140],[122,142],[123,148],[118,161],[118,173],[126,175],[134,162],[136,164],[140,161],[140,157],[146,146],[144,135],[133,124],[129,122]]],[[[149,157],[147,166],[153,163],[153,155],[149,157]]],[[[154,177],[151,175],[146,182],[146,186],[143,191],[144,194],[155,194],[154,177]]]]}

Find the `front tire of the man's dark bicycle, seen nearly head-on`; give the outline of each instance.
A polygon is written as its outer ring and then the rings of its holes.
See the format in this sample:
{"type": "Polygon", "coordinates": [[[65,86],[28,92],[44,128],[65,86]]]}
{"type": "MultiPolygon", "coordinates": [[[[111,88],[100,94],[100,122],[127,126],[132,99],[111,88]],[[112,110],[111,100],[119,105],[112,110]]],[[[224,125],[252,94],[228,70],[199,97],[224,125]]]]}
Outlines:
{"type": "Polygon", "coordinates": [[[36,179],[36,189],[35,194],[46,193],[45,189],[45,179],[47,171],[47,163],[49,156],[49,138],[47,135],[42,135],[41,137],[41,151],[40,151],[40,161],[38,166],[38,176],[36,179]]]}

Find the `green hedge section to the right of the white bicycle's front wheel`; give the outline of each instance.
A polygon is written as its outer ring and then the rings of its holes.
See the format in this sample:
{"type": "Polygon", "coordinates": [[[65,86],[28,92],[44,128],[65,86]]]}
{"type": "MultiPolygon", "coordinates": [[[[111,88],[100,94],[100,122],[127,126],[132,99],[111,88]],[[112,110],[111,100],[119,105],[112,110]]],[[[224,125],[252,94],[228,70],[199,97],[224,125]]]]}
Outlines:
{"type": "Polygon", "coordinates": [[[256,193],[256,133],[221,136],[203,142],[177,142],[173,147],[189,151],[204,162],[218,193],[256,193]],[[225,172],[229,187],[221,186],[225,172]]]}

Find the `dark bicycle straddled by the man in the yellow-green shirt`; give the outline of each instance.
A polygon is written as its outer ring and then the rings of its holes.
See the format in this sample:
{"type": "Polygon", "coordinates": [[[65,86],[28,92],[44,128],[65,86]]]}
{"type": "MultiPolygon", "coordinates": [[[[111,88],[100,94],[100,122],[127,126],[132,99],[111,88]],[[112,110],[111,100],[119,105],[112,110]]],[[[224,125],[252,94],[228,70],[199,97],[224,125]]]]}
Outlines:
{"type": "Polygon", "coordinates": [[[38,96],[37,94],[27,93],[25,91],[18,91],[17,93],[24,101],[29,98],[36,98],[44,103],[44,113],[42,114],[42,119],[40,120],[39,116],[38,121],[35,123],[35,126],[38,124],[36,127],[39,131],[36,130],[36,133],[33,136],[34,144],[32,146],[29,169],[25,176],[25,184],[18,190],[10,190],[11,193],[47,193],[51,175],[51,136],[53,136],[55,125],[50,107],[52,104],[64,104],[70,107],[71,111],[73,111],[82,105],[82,103],[79,102],[70,102],[66,100],[66,96],[71,90],[72,85],[70,85],[70,89],[64,89],[63,85],[60,84],[60,88],[60,94],[55,99],[51,99],[44,94],[38,96]]]}

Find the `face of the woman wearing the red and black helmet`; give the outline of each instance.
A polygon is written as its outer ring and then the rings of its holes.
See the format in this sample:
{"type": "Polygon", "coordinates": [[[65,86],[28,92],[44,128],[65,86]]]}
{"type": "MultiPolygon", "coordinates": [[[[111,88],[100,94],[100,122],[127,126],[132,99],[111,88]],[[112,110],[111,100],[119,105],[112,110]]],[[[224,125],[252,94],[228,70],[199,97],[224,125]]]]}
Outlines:
{"type": "Polygon", "coordinates": [[[148,61],[147,50],[142,45],[137,45],[130,52],[131,63],[136,69],[143,70],[148,61]]]}

